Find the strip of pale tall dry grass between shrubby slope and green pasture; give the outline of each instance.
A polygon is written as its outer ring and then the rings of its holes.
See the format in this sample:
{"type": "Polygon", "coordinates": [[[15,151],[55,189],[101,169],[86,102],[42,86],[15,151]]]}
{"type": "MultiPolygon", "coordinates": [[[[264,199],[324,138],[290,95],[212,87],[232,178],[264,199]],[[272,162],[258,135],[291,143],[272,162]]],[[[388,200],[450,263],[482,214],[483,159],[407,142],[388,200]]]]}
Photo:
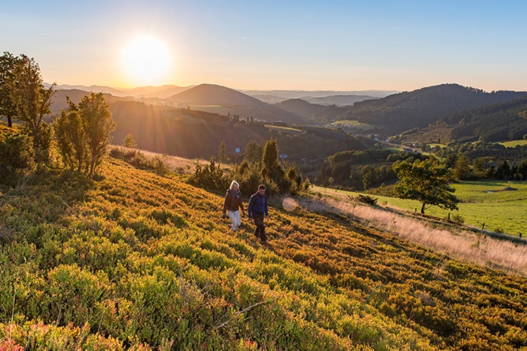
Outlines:
{"type": "Polygon", "coordinates": [[[357,218],[363,225],[385,230],[408,241],[483,267],[527,275],[527,245],[525,244],[494,239],[482,233],[439,228],[423,220],[403,216],[384,208],[360,204],[349,197],[304,199],[299,201],[299,204],[307,211],[319,213],[337,211],[351,218],[357,218]]]}

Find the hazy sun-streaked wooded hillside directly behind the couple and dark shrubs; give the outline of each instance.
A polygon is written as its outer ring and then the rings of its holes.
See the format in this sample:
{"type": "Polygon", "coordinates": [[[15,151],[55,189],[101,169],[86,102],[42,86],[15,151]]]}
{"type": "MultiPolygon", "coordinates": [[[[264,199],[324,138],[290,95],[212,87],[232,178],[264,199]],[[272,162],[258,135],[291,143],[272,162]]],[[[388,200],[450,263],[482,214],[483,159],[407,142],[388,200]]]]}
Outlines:
{"type": "MultiPolygon", "coordinates": [[[[128,134],[144,150],[186,158],[210,159],[226,143],[226,154],[243,154],[249,142],[261,145],[275,138],[287,159],[325,159],[341,150],[363,150],[371,145],[345,133],[324,129],[293,135],[266,128],[261,123],[246,123],[221,114],[178,109],[143,102],[115,100],[110,111],[117,125],[112,134],[119,144],[128,134]]],[[[372,140],[365,140],[372,142],[372,140]]]]}

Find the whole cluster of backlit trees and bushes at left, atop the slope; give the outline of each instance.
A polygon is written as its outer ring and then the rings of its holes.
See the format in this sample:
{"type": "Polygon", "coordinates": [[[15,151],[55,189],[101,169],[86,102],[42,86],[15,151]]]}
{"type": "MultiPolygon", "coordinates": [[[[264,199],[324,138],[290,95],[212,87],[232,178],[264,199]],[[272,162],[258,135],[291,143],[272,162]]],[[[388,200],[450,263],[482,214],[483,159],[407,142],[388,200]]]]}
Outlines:
{"type": "Polygon", "coordinates": [[[93,176],[108,152],[115,128],[103,93],[84,96],[78,105],[68,100],[53,124],[55,84],[45,88],[37,62],[26,55],[0,57],[1,184],[13,187],[33,171],[63,166],[93,176]],[[16,123],[15,123],[16,122],[16,123]]]}

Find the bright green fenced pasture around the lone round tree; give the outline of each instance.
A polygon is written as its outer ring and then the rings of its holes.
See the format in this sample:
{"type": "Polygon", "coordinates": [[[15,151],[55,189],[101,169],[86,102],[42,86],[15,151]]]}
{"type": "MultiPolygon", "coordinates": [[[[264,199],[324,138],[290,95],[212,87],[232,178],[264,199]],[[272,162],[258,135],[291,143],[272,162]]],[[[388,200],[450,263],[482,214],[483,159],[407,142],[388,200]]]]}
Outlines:
{"type": "MultiPolygon", "coordinates": [[[[460,199],[459,211],[447,211],[437,206],[431,206],[425,210],[427,215],[440,218],[448,218],[450,212],[453,216],[461,216],[464,224],[481,229],[483,223],[485,230],[493,232],[505,232],[506,234],[527,236],[527,182],[505,182],[505,181],[473,181],[453,184],[455,195],[460,199]],[[506,187],[516,190],[499,191],[506,187]]],[[[334,189],[313,187],[315,192],[334,193],[334,189]]],[[[344,192],[350,196],[356,196],[358,192],[344,192]]],[[[419,201],[408,199],[397,199],[393,197],[378,197],[377,204],[380,206],[391,206],[401,208],[405,211],[419,212],[421,204],[419,201]]]]}

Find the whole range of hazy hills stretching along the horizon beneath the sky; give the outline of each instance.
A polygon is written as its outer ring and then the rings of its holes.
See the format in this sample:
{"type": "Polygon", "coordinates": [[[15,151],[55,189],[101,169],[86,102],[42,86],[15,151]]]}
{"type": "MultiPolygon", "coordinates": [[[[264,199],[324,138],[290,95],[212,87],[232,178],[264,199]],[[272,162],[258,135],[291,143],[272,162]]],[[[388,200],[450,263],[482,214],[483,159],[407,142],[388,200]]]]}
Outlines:
{"type": "MultiPolygon", "coordinates": [[[[375,126],[375,129],[370,129],[370,133],[382,133],[388,136],[415,128],[423,130],[428,126],[438,124],[438,121],[453,114],[479,107],[483,108],[493,103],[506,102],[527,95],[525,91],[493,91],[487,93],[481,89],[460,86],[459,84],[441,84],[420,88],[415,91],[396,93],[383,98],[356,101],[353,105],[337,106],[313,103],[313,99],[316,100],[318,98],[312,98],[311,102],[301,98],[290,98],[275,104],[269,104],[243,91],[216,84],[200,84],[191,87],[147,86],[127,91],[119,91],[104,86],[57,86],[57,88],[59,90],[56,93],[56,102],[52,107],[54,113],[60,112],[60,109],[67,108],[66,95],[70,96],[72,101],[78,102],[82,95],[85,95],[86,91],[103,91],[108,94],[107,100],[110,103],[115,100],[138,100],[148,105],[168,105],[190,110],[201,110],[236,119],[254,119],[265,123],[284,122],[289,125],[323,125],[335,120],[357,120],[375,126]],[[60,90],[60,88],[65,87],[69,89],[60,90]],[[165,96],[165,98],[159,98],[159,96],[165,96]]],[[[252,93],[255,92],[252,91],[252,93]]],[[[282,97],[287,94],[294,96],[308,93],[306,91],[268,92],[282,93],[282,97]]],[[[330,93],[329,91],[311,93],[311,95],[319,96],[320,99],[325,101],[328,98],[336,97],[336,95],[321,96],[323,93],[330,93]]],[[[348,99],[350,96],[346,95],[343,98],[348,99]]],[[[366,98],[366,96],[363,95],[363,98],[366,98]]],[[[484,111],[484,109],[477,111],[479,111],[477,113],[483,113],[481,111],[484,111]]],[[[499,135],[517,135],[521,133],[521,131],[518,131],[519,127],[500,121],[500,118],[504,117],[498,117],[498,114],[495,113],[490,114],[490,116],[492,117],[485,117],[484,128],[487,131],[500,131],[492,136],[487,135],[488,133],[468,131],[467,128],[469,126],[474,126],[474,128],[476,128],[475,126],[481,126],[482,122],[476,123],[475,117],[470,118],[470,123],[468,123],[467,118],[463,119],[463,123],[465,123],[463,127],[455,126],[445,119],[441,123],[441,128],[443,128],[441,131],[436,126],[434,133],[429,131],[427,135],[429,137],[434,135],[434,139],[441,138],[439,135],[443,135],[443,138],[448,135],[448,138],[452,140],[464,140],[469,138],[477,139],[484,134],[483,139],[495,140],[499,135]],[[502,126],[499,126],[500,124],[502,126]],[[504,130],[505,125],[507,125],[506,131],[504,130]],[[454,129],[455,131],[450,131],[454,129]]],[[[518,121],[516,124],[520,123],[520,120],[518,121]]],[[[507,136],[508,138],[510,137],[507,136]]]]}

